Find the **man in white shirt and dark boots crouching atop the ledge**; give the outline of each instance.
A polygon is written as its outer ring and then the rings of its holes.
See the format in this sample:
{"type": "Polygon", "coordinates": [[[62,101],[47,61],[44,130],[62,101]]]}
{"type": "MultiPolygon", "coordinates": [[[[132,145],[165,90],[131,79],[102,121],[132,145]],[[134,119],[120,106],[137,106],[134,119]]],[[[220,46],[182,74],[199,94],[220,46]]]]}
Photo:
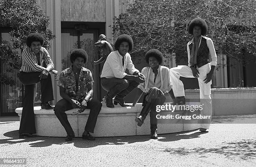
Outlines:
{"type": "Polygon", "coordinates": [[[145,82],[145,77],[137,70],[128,52],[133,50],[133,40],[129,35],[120,35],[114,44],[115,51],[111,52],[103,66],[101,86],[108,91],[105,96],[107,107],[113,108],[119,103],[125,105],[123,98],[127,96],[139,83],[145,82]],[[126,68],[130,74],[125,73],[126,68]],[[114,105],[113,105],[113,97],[114,105]]]}

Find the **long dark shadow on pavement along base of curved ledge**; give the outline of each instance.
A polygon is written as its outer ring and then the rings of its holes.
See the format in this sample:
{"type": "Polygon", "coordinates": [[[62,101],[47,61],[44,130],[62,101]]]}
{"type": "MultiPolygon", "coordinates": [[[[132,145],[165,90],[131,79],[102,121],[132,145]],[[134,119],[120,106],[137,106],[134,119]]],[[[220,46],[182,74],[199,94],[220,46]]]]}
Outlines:
{"type": "MultiPolygon", "coordinates": [[[[192,132],[192,131],[188,131],[192,132]]],[[[196,132],[191,135],[182,135],[187,132],[180,133],[172,133],[172,134],[163,134],[159,135],[159,137],[165,137],[164,139],[158,139],[161,142],[172,142],[181,139],[192,139],[197,138],[199,135],[207,133],[196,132]]],[[[124,136],[124,137],[96,137],[95,141],[82,140],[81,137],[75,137],[72,141],[66,142],[65,137],[28,137],[24,139],[20,139],[18,135],[18,130],[6,132],[3,134],[6,137],[10,137],[9,139],[0,139],[0,144],[16,144],[16,143],[26,143],[30,142],[29,145],[31,147],[48,147],[51,145],[64,145],[74,143],[75,147],[79,148],[90,148],[97,147],[100,145],[124,145],[131,144],[136,142],[145,142],[148,140],[152,140],[150,135],[140,135],[140,136],[124,136]]]]}

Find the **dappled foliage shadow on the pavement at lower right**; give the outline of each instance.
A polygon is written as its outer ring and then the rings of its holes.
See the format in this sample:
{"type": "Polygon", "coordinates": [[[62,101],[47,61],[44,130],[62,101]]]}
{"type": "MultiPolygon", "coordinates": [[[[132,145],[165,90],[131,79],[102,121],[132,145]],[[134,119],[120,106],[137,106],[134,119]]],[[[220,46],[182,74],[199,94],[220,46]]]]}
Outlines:
{"type": "Polygon", "coordinates": [[[164,152],[169,152],[172,155],[200,155],[200,157],[210,157],[212,153],[217,153],[220,155],[225,155],[228,158],[233,158],[234,156],[236,156],[243,160],[249,160],[251,158],[256,158],[256,140],[242,140],[240,142],[223,142],[223,144],[219,146],[217,145],[215,148],[170,148],[164,150],[164,152]]]}

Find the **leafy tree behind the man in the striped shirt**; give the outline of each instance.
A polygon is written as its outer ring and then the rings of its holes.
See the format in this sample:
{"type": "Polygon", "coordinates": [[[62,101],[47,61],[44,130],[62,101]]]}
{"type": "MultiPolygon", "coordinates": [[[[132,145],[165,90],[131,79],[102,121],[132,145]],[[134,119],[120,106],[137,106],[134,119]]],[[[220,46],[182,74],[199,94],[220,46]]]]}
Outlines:
{"type": "Polygon", "coordinates": [[[0,73],[1,84],[14,85],[15,80],[7,72],[19,70],[21,59],[18,50],[26,46],[28,34],[38,32],[45,38],[44,47],[50,47],[49,41],[54,38],[47,29],[49,17],[40,10],[36,0],[0,0],[0,28],[10,27],[11,42],[1,40],[0,59],[7,65],[6,71],[0,73]]]}

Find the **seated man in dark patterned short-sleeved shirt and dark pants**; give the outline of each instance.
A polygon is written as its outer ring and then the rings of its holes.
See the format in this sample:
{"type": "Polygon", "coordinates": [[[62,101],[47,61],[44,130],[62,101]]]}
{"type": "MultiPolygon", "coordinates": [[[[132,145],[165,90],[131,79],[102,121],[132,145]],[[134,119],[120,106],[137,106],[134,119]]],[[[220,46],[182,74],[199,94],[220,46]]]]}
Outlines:
{"type": "Polygon", "coordinates": [[[95,137],[90,135],[89,132],[94,132],[102,104],[92,98],[94,81],[91,71],[82,67],[87,61],[87,57],[87,53],[84,50],[74,50],[70,55],[72,66],[63,70],[59,76],[59,92],[63,99],[56,103],[54,113],[67,132],[66,141],[70,141],[74,137],[74,131],[65,113],[65,111],[72,108],[79,108],[79,112],[84,112],[86,108],[91,109],[82,138],[95,140],[95,137]],[[87,90],[89,91],[88,93],[87,90]]]}

